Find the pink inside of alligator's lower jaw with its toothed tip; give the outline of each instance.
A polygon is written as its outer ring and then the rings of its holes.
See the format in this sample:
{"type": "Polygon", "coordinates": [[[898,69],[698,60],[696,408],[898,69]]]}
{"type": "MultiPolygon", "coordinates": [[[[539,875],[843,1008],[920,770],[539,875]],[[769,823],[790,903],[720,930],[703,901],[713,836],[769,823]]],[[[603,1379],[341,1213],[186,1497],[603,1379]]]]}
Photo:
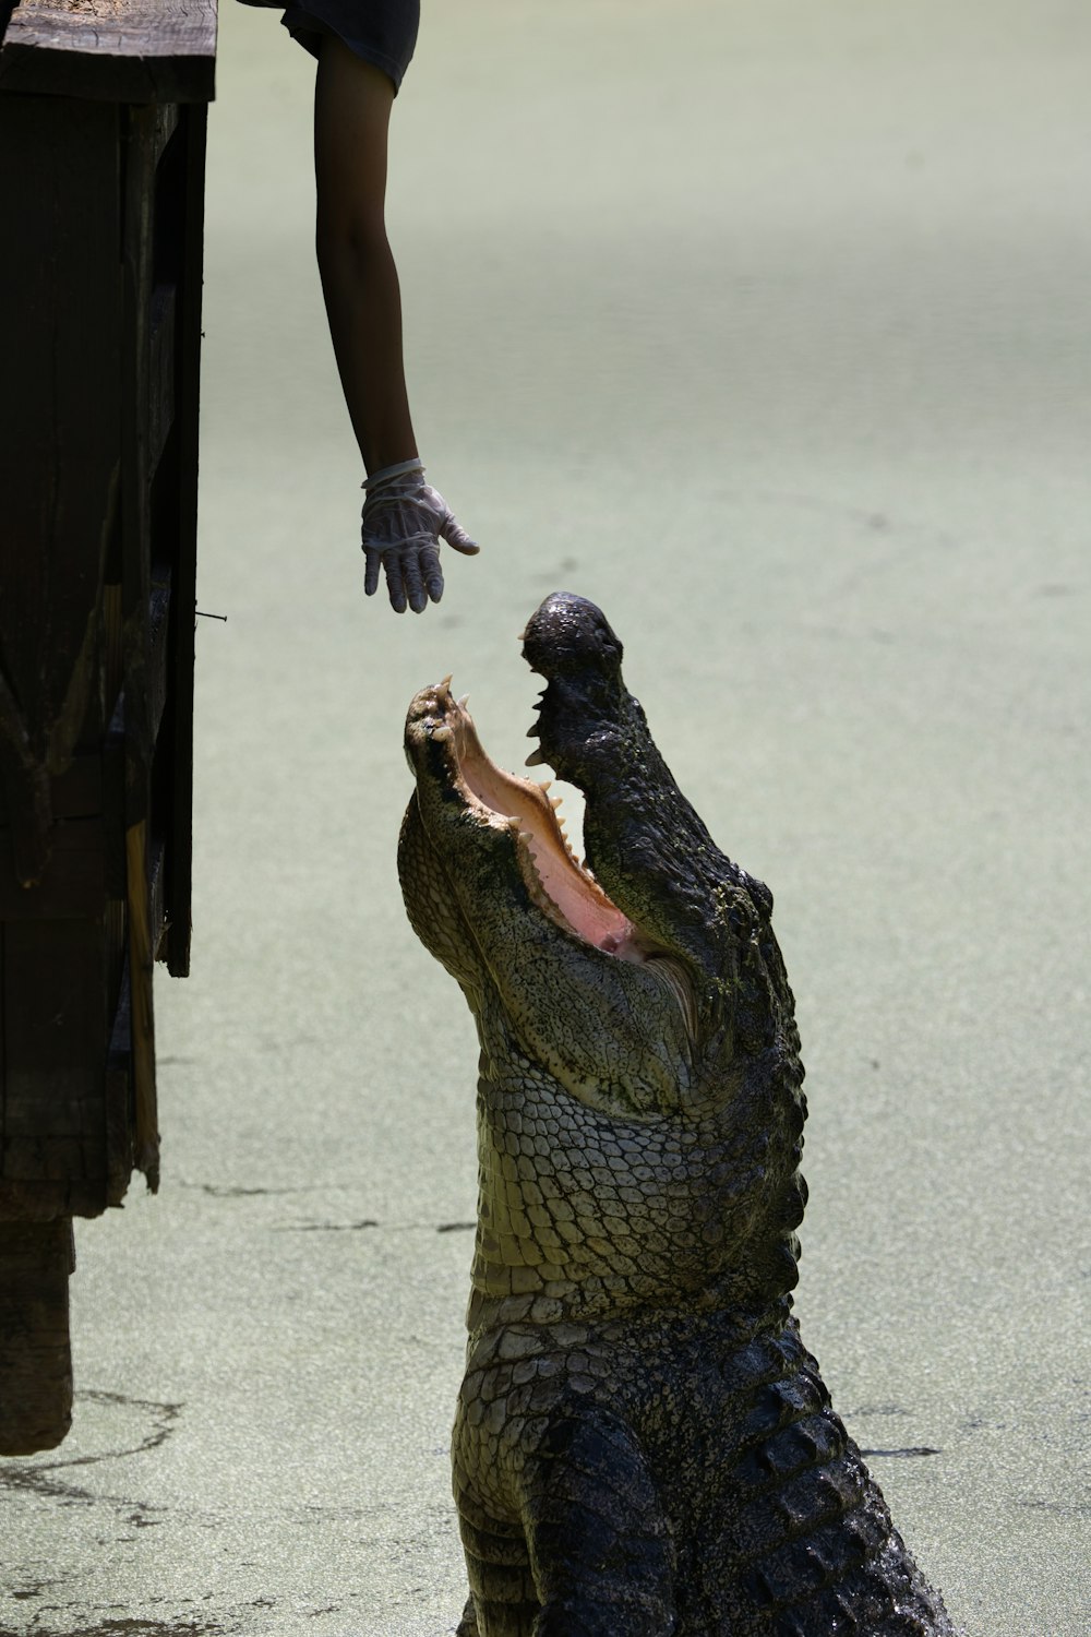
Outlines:
{"type": "Polygon", "coordinates": [[[548,784],[496,766],[465,704],[451,694],[450,678],[414,697],[406,750],[419,781],[438,778],[478,823],[510,833],[523,881],[553,920],[607,954],[646,958],[633,923],[572,856],[548,784]]]}

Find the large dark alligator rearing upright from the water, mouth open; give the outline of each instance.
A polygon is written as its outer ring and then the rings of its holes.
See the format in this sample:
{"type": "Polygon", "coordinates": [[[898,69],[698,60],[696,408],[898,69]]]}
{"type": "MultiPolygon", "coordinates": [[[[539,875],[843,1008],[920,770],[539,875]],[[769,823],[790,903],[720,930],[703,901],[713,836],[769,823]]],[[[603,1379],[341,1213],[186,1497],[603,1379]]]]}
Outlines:
{"type": "Polygon", "coordinates": [[[527,760],[582,791],[582,866],[450,678],[406,724],[406,907],[481,1046],[458,1637],[954,1637],[792,1311],[772,895],[674,782],[604,614],[554,593],[522,640],[527,760]]]}

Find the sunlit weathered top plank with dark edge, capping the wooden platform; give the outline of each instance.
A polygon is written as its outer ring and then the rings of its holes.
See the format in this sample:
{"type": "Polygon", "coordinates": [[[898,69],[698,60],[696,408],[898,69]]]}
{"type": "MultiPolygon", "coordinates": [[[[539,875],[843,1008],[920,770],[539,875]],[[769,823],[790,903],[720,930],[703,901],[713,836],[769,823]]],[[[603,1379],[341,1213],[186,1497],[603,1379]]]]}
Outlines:
{"type": "Polygon", "coordinates": [[[216,0],[23,0],[0,51],[0,90],[211,101],[216,0]]]}

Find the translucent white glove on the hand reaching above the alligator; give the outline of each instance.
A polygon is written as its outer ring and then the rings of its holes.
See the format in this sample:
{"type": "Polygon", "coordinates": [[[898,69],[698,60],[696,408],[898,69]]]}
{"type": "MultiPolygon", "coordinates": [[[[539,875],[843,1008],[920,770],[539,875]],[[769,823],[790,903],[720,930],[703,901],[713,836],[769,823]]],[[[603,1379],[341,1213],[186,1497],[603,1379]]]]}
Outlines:
{"type": "Polygon", "coordinates": [[[429,598],[438,602],[443,596],[440,540],[466,557],[474,557],[481,547],[455,519],[438,489],[424,481],[419,460],[384,467],[363,486],[363,589],[375,596],[383,568],[391,607],[404,614],[409,604],[414,614],[422,614],[429,598]]]}

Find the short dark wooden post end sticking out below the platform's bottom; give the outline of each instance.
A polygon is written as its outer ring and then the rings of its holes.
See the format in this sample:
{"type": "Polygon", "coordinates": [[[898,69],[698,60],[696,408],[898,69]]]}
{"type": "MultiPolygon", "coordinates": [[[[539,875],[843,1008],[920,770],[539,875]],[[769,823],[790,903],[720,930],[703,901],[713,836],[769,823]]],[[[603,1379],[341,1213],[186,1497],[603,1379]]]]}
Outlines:
{"type": "Polygon", "coordinates": [[[0,1221],[0,1455],[56,1449],[72,1424],[72,1223],[0,1221]]]}

